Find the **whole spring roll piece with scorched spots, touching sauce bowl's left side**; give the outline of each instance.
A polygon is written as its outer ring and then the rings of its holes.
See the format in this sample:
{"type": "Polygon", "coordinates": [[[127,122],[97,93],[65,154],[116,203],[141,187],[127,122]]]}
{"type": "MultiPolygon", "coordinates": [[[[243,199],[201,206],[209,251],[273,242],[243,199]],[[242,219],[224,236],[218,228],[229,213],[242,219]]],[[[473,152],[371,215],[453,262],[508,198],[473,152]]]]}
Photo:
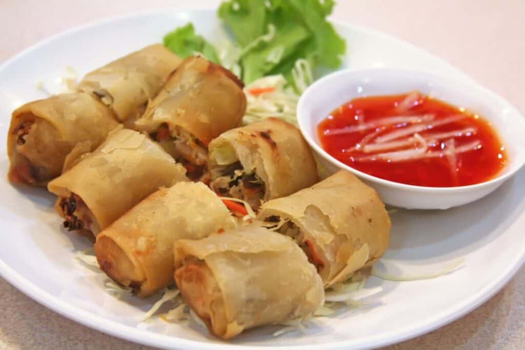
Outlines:
{"type": "Polygon", "coordinates": [[[261,201],[318,181],[316,162],[299,130],[277,118],[227,131],[209,144],[210,187],[220,196],[261,201]]]}

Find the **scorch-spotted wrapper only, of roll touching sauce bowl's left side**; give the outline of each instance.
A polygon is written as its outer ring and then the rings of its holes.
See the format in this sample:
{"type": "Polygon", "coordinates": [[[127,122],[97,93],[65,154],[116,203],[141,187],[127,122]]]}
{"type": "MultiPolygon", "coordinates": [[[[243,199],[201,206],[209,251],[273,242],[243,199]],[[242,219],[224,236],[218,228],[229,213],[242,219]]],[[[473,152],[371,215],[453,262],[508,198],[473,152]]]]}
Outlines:
{"type": "Polygon", "coordinates": [[[229,130],[209,144],[212,181],[220,175],[215,169],[235,161],[264,182],[264,201],[290,195],[319,181],[312,151],[301,132],[277,118],[229,130]]]}

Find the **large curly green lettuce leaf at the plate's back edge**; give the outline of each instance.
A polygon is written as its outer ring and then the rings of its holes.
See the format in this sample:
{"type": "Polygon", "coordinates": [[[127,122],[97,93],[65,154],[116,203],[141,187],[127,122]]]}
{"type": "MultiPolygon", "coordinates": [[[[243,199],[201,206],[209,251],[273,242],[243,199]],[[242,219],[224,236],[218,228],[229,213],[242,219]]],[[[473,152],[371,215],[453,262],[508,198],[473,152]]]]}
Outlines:
{"type": "Polygon", "coordinates": [[[250,83],[281,73],[293,84],[291,71],[298,59],[316,66],[338,68],[346,43],[326,17],[333,0],[229,0],[219,17],[244,49],[240,56],[242,79],[250,83]],[[269,26],[275,31],[268,38],[269,26]]]}

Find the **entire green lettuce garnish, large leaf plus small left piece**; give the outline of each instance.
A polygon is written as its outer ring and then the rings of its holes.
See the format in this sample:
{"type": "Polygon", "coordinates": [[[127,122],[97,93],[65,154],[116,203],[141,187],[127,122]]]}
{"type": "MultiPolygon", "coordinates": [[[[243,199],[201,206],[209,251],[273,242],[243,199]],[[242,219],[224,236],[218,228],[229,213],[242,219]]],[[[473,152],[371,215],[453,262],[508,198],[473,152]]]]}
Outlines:
{"type": "Polygon", "coordinates": [[[261,77],[282,75],[301,92],[294,79],[299,66],[337,69],[346,43],[327,20],[333,0],[228,0],[217,10],[218,17],[235,38],[235,52],[221,47],[220,62],[215,48],[195,34],[192,24],[164,37],[164,45],[182,57],[200,53],[229,68],[246,84],[261,77]],[[234,53],[234,54],[233,54],[234,53]],[[298,62],[302,62],[298,65],[298,62]],[[306,62],[306,63],[305,63],[306,62]]]}

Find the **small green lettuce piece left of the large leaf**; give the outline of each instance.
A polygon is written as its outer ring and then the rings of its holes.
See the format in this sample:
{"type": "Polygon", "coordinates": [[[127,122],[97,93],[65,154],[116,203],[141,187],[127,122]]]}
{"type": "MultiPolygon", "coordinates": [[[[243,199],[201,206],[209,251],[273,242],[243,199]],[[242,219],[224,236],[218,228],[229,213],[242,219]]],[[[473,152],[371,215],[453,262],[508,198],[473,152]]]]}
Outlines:
{"type": "Polygon", "coordinates": [[[201,54],[210,61],[220,63],[215,48],[202,36],[195,34],[191,23],[166,34],[164,46],[182,58],[201,54]]]}

